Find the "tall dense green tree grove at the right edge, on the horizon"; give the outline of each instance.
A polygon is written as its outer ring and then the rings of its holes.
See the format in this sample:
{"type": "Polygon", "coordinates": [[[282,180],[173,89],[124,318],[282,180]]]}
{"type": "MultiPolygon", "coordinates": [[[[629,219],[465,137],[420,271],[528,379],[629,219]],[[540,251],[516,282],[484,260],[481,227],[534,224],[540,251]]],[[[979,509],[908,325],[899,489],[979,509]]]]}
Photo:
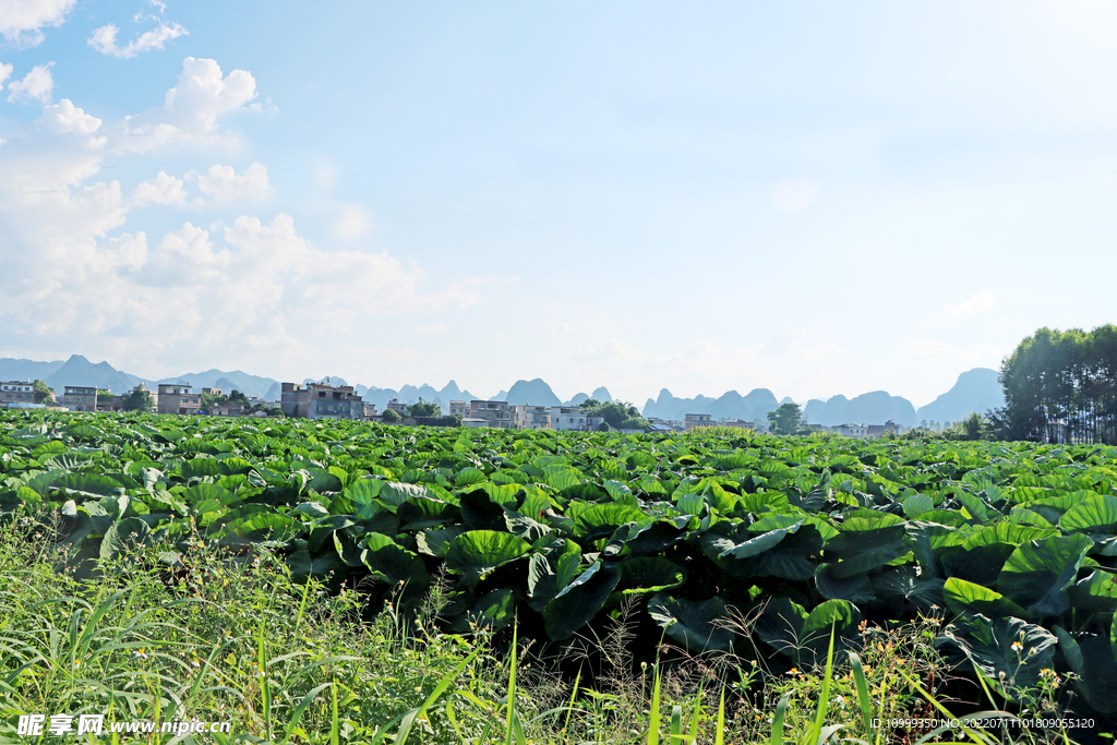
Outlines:
{"type": "Polygon", "coordinates": [[[1117,326],[1040,328],[1005,357],[999,439],[1117,443],[1117,326]]]}

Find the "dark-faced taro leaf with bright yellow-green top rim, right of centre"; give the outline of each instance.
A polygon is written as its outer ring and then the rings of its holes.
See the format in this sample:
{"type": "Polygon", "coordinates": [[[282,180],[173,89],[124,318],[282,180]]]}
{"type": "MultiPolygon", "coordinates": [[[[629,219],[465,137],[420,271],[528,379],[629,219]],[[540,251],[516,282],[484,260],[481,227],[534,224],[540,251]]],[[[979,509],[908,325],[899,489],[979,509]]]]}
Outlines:
{"type": "Polygon", "coordinates": [[[838,535],[827,539],[823,556],[834,565],[830,575],[842,580],[885,566],[911,550],[903,518],[861,509],[839,526],[838,535]]]}

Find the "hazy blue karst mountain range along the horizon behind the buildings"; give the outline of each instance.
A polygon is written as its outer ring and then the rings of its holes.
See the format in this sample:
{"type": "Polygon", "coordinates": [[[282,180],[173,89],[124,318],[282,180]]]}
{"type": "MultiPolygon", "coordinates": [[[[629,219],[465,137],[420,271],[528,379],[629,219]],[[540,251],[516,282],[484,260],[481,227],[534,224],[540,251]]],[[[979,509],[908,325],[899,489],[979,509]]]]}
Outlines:
{"type": "MultiPolygon", "coordinates": [[[[140,378],[116,370],[107,362],[92,363],[80,354],[75,354],[66,361],[37,362],[34,360],[15,360],[0,357],[0,380],[42,380],[58,393],[66,385],[96,385],[113,393],[125,393],[140,382],[149,385],[159,383],[190,383],[194,389],[219,388],[229,392],[238,390],[247,395],[255,395],[267,401],[278,401],[280,397],[279,381],[260,375],[250,375],[235,370],[206,370],[197,373],[185,373],[162,380],[140,378]]],[[[324,380],[324,379],[319,379],[324,380]]],[[[341,378],[331,378],[335,385],[347,385],[341,378]]],[[[304,382],[317,382],[306,379],[304,382]]],[[[438,403],[443,409],[450,401],[471,401],[478,399],[469,391],[461,390],[455,381],[441,389],[428,384],[419,386],[403,385],[399,390],[355,384],[353,386],[364,400],[384,409],[391,399],[402,403],[416,403],[420,398],[438,403]]],[[[577,405],[586,399],[608,402],[613,398],[604,386],[598,388],[592,394],[577,393],[569,401],[562,401],[551,386],[542,379],[516,381],[507,391],[500,391],[491,400],[507,401],[512,404],[531,403],[544,407],[577,405]]],[[[682,419],[686,414],[705,413],[714,419],[764,419],[770,411],[787,403],[791,399],[777,401],[775,394],[766,388],[758,388],[741,395],[737,391],[727,391],[717,398],[696,395],[693,399],[676,398],[666,388],[656,399],[648,399],[643,404],[645,417],[661,419],[682,419]]],[[[827,401],[812,399],[806,402],[803,416],[812,424],[870,423],[882,424],[889,419],[904,427],[913,427],[926,421],[958,421],[967,414],[977,411],[985,412],[1004,405],[1004,391],[996,380],[996,371],[987,367],[975,367],[958,375],[957,382],[949,391],[943,393],[933,402],[915,407],[907,399],[891,395],[886,391],[862,393],[852,399],[836,395],[827,401]]]]}

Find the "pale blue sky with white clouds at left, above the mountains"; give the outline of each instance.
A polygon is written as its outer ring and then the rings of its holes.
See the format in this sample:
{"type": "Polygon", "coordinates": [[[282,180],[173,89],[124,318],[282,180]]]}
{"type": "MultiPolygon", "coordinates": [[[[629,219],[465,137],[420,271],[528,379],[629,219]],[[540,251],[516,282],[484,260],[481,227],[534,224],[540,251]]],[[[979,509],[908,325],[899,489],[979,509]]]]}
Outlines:
{"type": "Polygon", "coordinates": [[[920,405],[1115,321],[1100,0],[0,0],[0,356],[920,405]]]}

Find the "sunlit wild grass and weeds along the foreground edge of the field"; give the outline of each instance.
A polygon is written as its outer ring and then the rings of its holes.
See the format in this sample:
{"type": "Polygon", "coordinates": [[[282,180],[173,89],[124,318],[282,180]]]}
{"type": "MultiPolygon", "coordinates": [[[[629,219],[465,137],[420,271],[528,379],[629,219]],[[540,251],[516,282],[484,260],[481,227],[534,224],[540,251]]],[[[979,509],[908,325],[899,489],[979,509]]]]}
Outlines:
{"type": "MultiPolygon", "coordinates": [[[[942,717],[953,705],[935,698],[948,675],[929,646],[936,618],[866,629],[859,653],[837,655],[831,643],[821,669],[773,678],[755,662],[662,643],[670,663],[634,665],[629,606],[603,639],[585,640],[605,666],[591,688],[582,674],[564,680],[533,657],[515,630],[510,644],[484,629],[437,631],[430,619],[448,602],[438,585],[413,621],[391,604],[370,619],[354,590],[294,584],[273,555],[229,555],[200,539],[173,571],[152,551],[79,582],[57,570],[65,557],[49,536],[29,529],[0,533],[0,742],[34,742],[16,734],[21,714],[85,713],[231,725],[228,736],[146,736],[166,744],[914,745],[930,729],[887,732],[875,720],[942,717]]],[[[1038,706],[1057,707],[1050,690],[1038,706]]],[[[1021,728],[930,737],[1073,742],[1021,728]]]]}

